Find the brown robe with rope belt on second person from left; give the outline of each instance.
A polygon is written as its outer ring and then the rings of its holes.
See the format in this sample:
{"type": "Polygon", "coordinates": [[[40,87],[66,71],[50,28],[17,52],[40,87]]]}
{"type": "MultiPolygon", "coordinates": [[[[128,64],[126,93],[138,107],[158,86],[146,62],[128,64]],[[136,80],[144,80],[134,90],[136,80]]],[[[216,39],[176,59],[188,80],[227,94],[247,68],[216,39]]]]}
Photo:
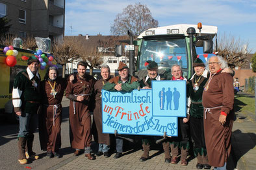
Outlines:
{"type": "Polygon", "coordinates": [[[42,150],[46,150],[49,157],[51,153],[58,153],[61,146],[60,125],[62,120],[62,97],[66,89],[67,81],[57,78],[53,81],[42,81],[43,106],[39,114],[39,136],[42,150]],[[55,92],[51,93],[51,90],[55,92]],[[54,95],[55,94],[55,95],[54,95]]]}

